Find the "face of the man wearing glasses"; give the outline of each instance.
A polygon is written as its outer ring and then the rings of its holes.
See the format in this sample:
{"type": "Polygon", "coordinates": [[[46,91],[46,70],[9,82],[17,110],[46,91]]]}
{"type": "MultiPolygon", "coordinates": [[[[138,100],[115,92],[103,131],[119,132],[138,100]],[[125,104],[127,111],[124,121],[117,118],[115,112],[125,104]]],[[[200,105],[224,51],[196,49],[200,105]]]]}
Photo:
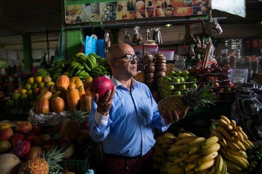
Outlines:
{"type": "Polygon", "coordinates": [[[121,76],[125,79],[129,79],[130,77],[134,77],[137,75],[137,60],[133,59],[129,61],[125,55],[135,55],[135,52],[132,47],[125,49],[124,51],[120,51],[119,54],[116,54],[112,61],[116,66],[116,73],[118,76],[121,76]],[[125,56],[120,59],[116,59],[119,57],[125,56]],[[116,59],[116,60],[114,60],[116,59]]]}

